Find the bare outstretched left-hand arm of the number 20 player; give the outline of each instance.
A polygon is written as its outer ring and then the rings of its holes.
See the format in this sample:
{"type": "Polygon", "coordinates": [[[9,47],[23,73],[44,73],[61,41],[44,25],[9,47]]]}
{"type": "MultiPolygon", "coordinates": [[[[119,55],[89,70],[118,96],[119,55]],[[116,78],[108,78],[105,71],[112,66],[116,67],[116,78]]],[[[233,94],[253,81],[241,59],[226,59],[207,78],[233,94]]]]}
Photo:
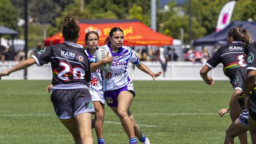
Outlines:
{"type": "Polygon", "coordinates": [[[26,59],[25,61],[22,61],[18,65],[11,67],[9,70],[2,70],[0,73],[0,79],[1,79],[1,76],[9,76],[9,74],[11,74],[12,72],[22,70],[22,69],[32,66],[34,64],[35,64],[35,59],[33,59],[33,58],[26,59]]]}

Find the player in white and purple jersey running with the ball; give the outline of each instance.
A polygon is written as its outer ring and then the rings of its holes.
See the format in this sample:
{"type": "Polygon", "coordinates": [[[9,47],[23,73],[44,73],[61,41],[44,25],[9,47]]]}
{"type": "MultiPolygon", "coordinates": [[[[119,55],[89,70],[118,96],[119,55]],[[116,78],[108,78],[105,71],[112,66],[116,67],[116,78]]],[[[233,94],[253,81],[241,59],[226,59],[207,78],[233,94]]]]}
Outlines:
{"type": "MultiPolygon", "coordinates": [[[[131,48],[122,46],[124,42],[124,33],[120,28],[112,28],[109,37],[106,39],[104,48],[110,50],[113,62],[108,71],[103,71],[103,90],[104,98],[107,105],[112,111],[119,116],[124,131],[129,137],[130,144],[136,144],[135,135],[143,144],[150,144],[148,138],[141,133],[139,126],[130,112],[130,106],[135,96],[132,79],[128,76],[128,62],[134,63],[137,68],[152,76],[156,77],[163,72],[153,73],[146,65],[141,63],[131,48]]],[[[108,54],[107,54],[108,55],[108,54]]],[[[99,68],[103,64],[98,64],[96,54],[90,60],[91,67],[99,68]],[[95,66],[98,65],[98,66],[95,66]]]]}

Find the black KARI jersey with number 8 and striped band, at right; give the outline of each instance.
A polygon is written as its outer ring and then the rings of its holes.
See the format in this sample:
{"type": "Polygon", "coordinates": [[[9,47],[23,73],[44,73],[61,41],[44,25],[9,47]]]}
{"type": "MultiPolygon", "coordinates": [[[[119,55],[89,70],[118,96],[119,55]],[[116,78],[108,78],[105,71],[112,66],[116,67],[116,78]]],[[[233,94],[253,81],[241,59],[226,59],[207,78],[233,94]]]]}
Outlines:
{"type": "Polygon", "coordinates": [[[245,44],[240,41],[234,41],[219,48],[215,54],[206,62],[210,68],[215,68],[220,63],[223,64],[223,72],[230,79],[234,86],[236,71],[239,68],[247,66],[243,57],[245,44]]]}

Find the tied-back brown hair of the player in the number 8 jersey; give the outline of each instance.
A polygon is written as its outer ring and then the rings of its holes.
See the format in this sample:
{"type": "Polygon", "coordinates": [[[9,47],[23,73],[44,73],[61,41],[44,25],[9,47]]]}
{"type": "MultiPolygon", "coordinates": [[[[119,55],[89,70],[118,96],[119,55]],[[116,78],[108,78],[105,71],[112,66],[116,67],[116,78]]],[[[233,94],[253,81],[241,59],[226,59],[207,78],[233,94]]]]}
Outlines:
{"type": "Polygon", "coordinates": [[[245,42],[245,44],[250,44],[253,42],[249,32],[244,28],[232,28],[228,31],[228,37],[232,37],[233,41],[245,42]]]}

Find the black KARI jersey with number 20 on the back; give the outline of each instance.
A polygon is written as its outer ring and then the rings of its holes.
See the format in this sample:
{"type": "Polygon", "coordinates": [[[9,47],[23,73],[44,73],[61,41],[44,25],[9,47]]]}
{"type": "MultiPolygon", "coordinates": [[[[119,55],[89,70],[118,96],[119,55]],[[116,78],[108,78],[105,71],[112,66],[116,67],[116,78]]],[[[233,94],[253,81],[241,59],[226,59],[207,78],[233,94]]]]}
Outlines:
{"type": "Polygon", "coordinates": [[[55,89],[85,88],[91,82],[89,60],[82,45],[65,41],[46,47],[32,58],[37,66],[51,62],[55,89]]]}

